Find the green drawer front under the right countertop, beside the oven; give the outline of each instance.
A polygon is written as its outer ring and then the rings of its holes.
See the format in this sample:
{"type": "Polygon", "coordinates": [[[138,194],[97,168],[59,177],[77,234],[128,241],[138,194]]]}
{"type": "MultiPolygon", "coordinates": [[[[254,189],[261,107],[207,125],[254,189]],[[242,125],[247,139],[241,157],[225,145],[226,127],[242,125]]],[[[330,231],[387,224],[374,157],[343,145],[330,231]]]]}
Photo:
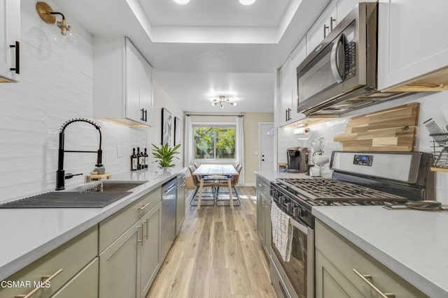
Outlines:
{"type": "Polygon", "coordinates": [[[356,269],[360,274],[372,276],[369,280],[370,283],[384,293],[394,294],[395,298],[428,297],[317,220],[316,251],[324,255],[326,260],[331,262],[365,297],[377,296],[372,287],[356,275],[353,269],[356,269]]]}

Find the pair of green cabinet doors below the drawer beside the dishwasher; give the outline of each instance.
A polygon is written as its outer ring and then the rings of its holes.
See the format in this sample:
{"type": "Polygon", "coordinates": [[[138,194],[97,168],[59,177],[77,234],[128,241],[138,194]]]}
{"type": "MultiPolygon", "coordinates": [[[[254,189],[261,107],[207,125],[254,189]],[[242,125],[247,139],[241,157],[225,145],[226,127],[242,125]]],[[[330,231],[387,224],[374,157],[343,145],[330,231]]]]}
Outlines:
{"type": "Polygon", "coordinates": [[[148,293],[160,268],[161,208],[159,202],[99,255],[100,298],[148,293]]]}

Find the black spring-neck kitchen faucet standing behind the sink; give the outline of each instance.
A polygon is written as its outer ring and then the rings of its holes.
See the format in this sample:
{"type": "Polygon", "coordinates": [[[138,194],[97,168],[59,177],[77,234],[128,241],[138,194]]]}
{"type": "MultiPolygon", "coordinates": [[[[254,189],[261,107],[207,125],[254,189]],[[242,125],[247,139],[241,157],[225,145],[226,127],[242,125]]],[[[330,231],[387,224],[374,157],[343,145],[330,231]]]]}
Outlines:
{"type": "Polygon", "coordinates": [[[62,191],[65,189],[65,179],[73,177],[73,174],[67,176],[64,171],[64,152],[77,152],[77,153],[96,153],[97,154],[97,167],[102,167],[102,155],[103,151],[101,149],[102,135],[101,129],[99,129],[99,125],[94,123],[89,119],[81,119],[75,118],[64,123],[59,131],[59,154],[57,158],[57,171],[56,171],[56,191],[62,191]],[[79,151],[79,150],[64,150],[64,131],[67,126],[72,124],[73,122],[85,122],[88,124],[92,124],[95,128],[97,128],[99,132],[99,149],[98,151],[79,151]]]}

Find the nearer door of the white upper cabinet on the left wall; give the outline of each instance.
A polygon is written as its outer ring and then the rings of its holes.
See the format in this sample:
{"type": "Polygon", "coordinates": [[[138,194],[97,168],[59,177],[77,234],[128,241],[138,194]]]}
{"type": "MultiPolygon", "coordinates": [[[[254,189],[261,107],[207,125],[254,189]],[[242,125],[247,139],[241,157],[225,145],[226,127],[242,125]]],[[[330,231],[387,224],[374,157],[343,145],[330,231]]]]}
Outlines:
{"type": "Polygon", "coordinates": [[[141,122],[140,77],[141,61],[139,51],[126,40],[126,118],[141,122]]]}

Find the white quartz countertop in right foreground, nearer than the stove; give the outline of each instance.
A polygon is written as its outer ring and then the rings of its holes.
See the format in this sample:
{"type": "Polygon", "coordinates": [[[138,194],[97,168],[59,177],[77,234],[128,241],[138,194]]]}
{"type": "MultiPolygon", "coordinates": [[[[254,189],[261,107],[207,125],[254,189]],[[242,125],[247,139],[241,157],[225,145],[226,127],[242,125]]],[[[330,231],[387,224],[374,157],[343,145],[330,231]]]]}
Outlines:
{"type": "Polygon", "coordinates": [[[448,297],[448,211],[332,206],[312,213],[429,297],[448,297]]]}

